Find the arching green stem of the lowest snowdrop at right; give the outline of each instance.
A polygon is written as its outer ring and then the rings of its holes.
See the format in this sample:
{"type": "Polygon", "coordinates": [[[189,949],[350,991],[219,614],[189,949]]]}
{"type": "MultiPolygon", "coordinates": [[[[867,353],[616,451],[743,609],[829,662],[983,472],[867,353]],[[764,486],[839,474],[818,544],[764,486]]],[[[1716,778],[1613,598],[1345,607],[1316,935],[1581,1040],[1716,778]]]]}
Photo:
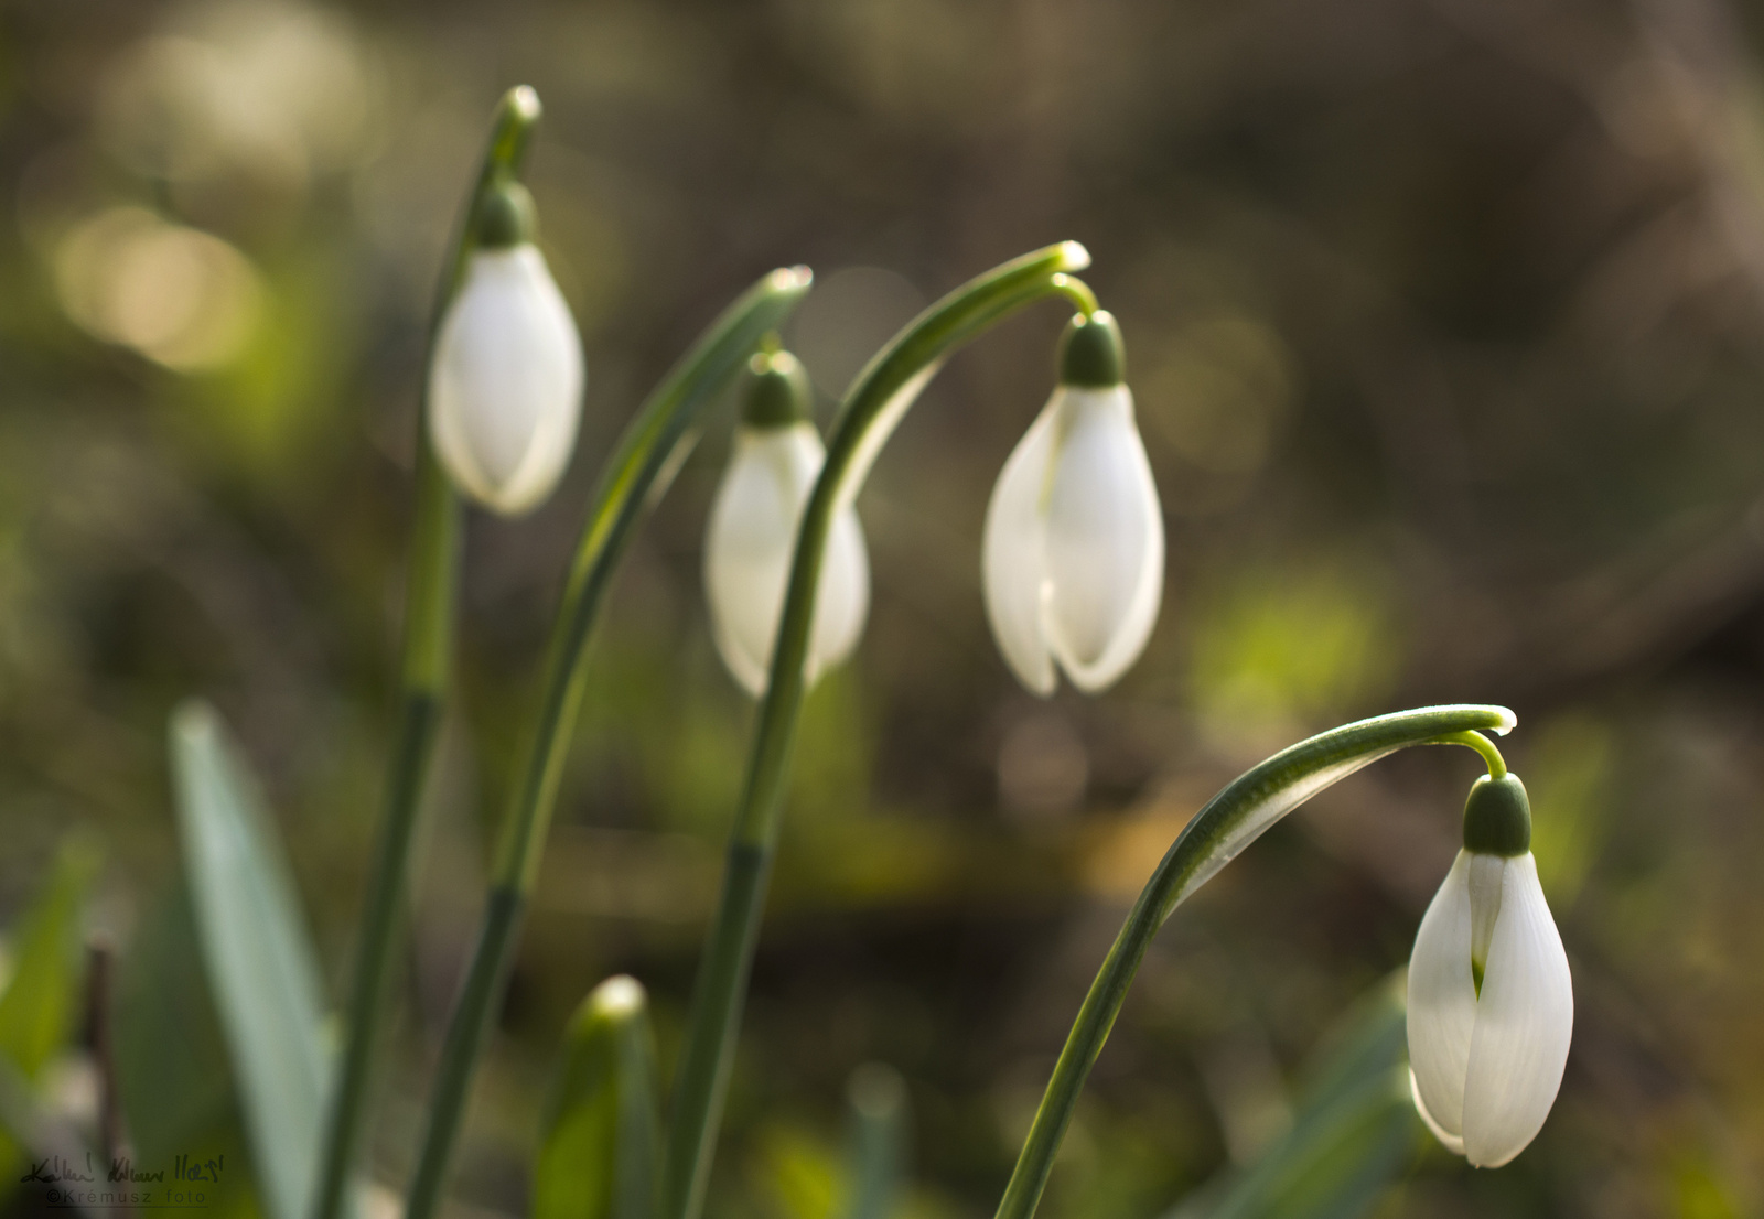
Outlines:
{"type": "Polygon", "coordinates": [[[1145,949],[1184,898],[1298,804],[1397,750],[1411,744],[1464,744],[1482,753],[1491,771],[1496,766],[1505,771],[1499,752],[1478,729],[1506,732],[1512,727],[1512,711],[1489,706],[1422,707],[1360,720],[1275,753],[1214,796],[1157,864],[1102,960],[1065,1048],[1060,1050],[1041,1108],[1035,1110],[1023,1152],[998,1203],[998,1219],[1028,1219],[1035,1214],[1073,1106],[1078,1104],[1090,1067],[1120,1014],[1145,949]]]}

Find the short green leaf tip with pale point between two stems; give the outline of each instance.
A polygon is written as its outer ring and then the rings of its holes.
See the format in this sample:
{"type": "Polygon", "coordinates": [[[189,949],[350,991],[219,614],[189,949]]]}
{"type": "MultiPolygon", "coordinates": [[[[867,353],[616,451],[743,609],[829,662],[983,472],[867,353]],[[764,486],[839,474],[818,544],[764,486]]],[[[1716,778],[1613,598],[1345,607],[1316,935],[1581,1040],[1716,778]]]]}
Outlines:
{"type": "Polygon", "coordinates": [[[570,1020],[533,1173],[533,1219],[651,1219],[660,1143],[647,998],[635,979],[609,977],[570,1020]]]}

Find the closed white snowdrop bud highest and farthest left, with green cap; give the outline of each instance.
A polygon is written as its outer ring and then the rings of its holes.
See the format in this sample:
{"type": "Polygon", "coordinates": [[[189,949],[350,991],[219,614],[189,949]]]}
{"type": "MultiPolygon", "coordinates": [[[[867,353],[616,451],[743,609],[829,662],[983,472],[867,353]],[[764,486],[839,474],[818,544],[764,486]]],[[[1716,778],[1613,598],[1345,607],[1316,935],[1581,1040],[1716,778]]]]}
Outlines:
{"type": "Polygon", "coordinates": [[[453,483],[519,515],[557,487],[582,416],[582,340],[533,245],[520,183],[494,191],[478,249],[441,319],[429,369],[429,432],[453,483]]]}

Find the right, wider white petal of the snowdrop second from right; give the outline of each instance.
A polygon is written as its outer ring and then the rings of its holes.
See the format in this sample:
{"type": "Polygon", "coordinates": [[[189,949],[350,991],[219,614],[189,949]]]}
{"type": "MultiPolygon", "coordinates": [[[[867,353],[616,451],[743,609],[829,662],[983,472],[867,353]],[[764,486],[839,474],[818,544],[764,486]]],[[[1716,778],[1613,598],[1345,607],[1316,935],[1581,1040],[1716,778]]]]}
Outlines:
{"type": "Polygon", "coordinates": [[[1164,596],[1164,517],[1127,386],[1060,392],[1044,623],[1073,684],[1095,693],[1127,672],[1152,635],[1164,596]]]}

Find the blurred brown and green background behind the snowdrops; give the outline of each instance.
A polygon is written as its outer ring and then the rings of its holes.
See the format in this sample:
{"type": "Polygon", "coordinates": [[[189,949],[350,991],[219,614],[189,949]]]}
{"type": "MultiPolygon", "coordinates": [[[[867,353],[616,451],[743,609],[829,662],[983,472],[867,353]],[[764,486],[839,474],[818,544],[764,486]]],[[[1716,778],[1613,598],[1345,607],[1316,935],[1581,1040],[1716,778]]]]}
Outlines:
{"type": "MultiPolygon", "coordinates": [[[[787,340],[831,411],[921,303],[1076,238],[1162,492],[1159,630],[1097,700],[1034,700],[988,637],[981,515],[1051,385],[1046,307],[949,365],[861,499],[871,619],[810,702],[711,1217],[834,1212],[866,1060],[907,1081],[914,1214],[988,1215],[1125,903],[1200,803],[1307,732],[1457,700],[1519,713],[1503,748],[1575,1043],[1512,1168],[1416,1140],[1381,1214],[1764,1214],[1757,16],[11,0],[0,923],[85,834],[88,921],[123,946],[136,1143],[238,1152],[166,714],[201,693],[240,734],[335,997],[388,750],[423,312],[490,106],[524,81],[587,409],[563,492],[469,527],[379,1180],[409,1170],[563,563],[644,390],[801,261],[817,291],[787,340]]],[[[596,644],[455,1219],[524,1214],[557,1041],[598,979],[651,986],[672,1062],[751,722],[699,579],[729,415],[596,644]]],[[[1281,1133],[1298,1064],[1406,961],[1476,773],[1455,750],[1362,773],[1171,921],[1043,1214],[1152,1219],[1281,1133]]],[[[81,1058],[44,1069],[90,1108],[81,1058]]]]}

